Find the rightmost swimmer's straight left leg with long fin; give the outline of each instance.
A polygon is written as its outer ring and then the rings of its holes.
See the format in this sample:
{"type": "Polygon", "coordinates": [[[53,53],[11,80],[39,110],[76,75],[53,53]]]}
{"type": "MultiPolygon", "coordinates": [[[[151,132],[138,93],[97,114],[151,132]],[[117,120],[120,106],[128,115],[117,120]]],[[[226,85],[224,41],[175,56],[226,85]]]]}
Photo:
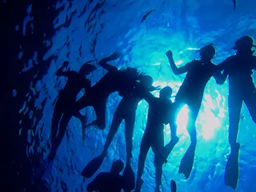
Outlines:
{"type": "Polygon", "coordinates": [[[239,130],[240,113],[243,104],[241,93],[229,93],[228,95],[228,112],[229,112],[229,127],[228,140],[231,147],[231,154],[228,157],[227,166],[225,169],[225,184],[233,189],[236,189],[239,177],[239,148],[237,143],[237,134],[239,130]]]}

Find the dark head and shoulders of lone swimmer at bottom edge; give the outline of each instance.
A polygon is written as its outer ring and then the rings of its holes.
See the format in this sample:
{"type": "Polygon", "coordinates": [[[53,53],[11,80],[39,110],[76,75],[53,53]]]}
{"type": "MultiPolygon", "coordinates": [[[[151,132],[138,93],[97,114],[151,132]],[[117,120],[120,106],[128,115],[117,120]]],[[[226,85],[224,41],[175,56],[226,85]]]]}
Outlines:
{"type": "Polygon", "coordinates": [[[109,173],[102,172],[87,186],[88,192],[120,192],[124,189],[124,177],[120,172],[124,169],[124,163],[117,160],[112,164],[109,173]]]}

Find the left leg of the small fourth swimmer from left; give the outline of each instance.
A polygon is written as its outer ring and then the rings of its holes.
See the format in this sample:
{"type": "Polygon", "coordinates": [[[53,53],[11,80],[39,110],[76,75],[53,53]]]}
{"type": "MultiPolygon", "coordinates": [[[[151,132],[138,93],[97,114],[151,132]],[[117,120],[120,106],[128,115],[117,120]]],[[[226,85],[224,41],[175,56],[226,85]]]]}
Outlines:
{"type": "Polygon", "coordinates": [[[146,133],[144,133],[143,138],[141,140],[141,145],[140,145],[140,155],[139,155],[139,162],[138,162],[138,175],[137,175],[137,181],[136,181],[136,188],[134,192],[140,192],[141,191],[141,186],[143,184],[143,180],[141,179],[143,175],[143,170],[145,167],[145,161],[147,158],[148,150],[151,145],[151,138],[150,136],[146,133]]]}

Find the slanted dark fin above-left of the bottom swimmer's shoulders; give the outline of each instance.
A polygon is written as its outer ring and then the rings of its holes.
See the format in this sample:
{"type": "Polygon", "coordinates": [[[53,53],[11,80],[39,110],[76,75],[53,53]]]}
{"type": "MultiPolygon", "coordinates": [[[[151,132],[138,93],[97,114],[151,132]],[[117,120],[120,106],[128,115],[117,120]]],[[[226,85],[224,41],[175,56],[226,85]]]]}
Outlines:
{"type": "Polygon", "coordinates": [[[94,159],[92,159],[92,161],[90,161],[90,163],[88,163],[86,165],[86,167],[84,168],[81,175],[85,178],[92,177],[97,172],[97,170],[99,170],[99,168],[100,168],[101,164],[103,163],[105,157],[106,157],[105,154],[100,154],[100,156],[95,157],[94,159]]]}

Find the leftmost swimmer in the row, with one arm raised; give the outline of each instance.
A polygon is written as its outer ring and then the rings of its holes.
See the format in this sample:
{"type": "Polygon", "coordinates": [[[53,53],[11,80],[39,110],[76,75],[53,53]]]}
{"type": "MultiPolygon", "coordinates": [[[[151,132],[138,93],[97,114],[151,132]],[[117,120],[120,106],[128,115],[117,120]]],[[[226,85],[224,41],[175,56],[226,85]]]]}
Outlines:
{"type": "Polygon", "coordinates": [[[79,120],[81,121],[84,141],[84,127],[86,124],[86,116],[81,115],[79,111],[77,111],[77,113],[73,113],[72,108],[76,104],[77,94],[81,90],[83,90],[83,88],[85,92],[87,92],[91,87],[90,80],[86,79],[85,76],[93,72],[96,67],[90,64],[90,62],[91,61],[84,63],[84,65],[80,68],[79,72],[76,72],[73,70],[63,71],[63,69],[68,65],[68,61],[64,61],[62,67],[59,68],[56,72],[56,76],[64,76],[68,77],[68,79],[65,87],[63,88],[63,90],[60,91],[54,107],[51,129],[51,152],[49,154],[49,157],[45,159],[42,165],[36,170],[36,177],[40,177],[42,180],[44,180],[44,178],[47,177],[48,173],[51,172],[53,159],[56,156],[58,147],[60,146],[61,141],[65,136],[68,122],[73,115],[79,118],[79,120]]]}

